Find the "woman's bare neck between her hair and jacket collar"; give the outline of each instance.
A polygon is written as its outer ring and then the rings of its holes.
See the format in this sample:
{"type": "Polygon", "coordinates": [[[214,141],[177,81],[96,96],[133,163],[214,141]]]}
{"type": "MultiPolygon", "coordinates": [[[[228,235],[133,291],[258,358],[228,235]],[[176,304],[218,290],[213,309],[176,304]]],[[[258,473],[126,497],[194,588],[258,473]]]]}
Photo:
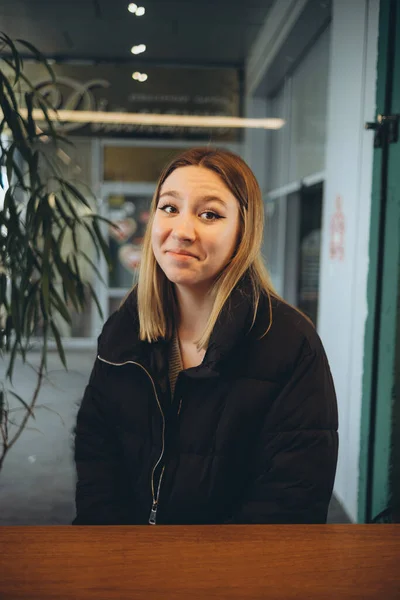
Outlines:
{"type": "Polygon", "coordinates": [[[209,290],[201,292],[175,286],[178,304],[178,336],[181,342],[194,343],[206,328],[213,307],[209,290]]]}

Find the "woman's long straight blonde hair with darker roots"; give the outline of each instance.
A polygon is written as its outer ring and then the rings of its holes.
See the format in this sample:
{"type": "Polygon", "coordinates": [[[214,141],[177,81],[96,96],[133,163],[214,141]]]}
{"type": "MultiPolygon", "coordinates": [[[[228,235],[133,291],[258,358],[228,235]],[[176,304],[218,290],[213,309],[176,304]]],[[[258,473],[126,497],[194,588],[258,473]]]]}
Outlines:
{"type": "MultiPolygon", "coordinates": [[[[150,207],[150,218],[143,241],[142,260],[137,284],[140,339],[155,342],[170,339],[176,318],[173,284],[158,265],[151,242],[151,230],[157,210],[161,186],[167,177],[180,167],[198,166],[219,175],[239,203],[240,231],[237,249],[210,292],[213,308],[207,326],[197,342],[198,349],[206,348],[215,323],[233,289],[246,274],[249,276],[253,303],[254,324],[262,293],[269,301],[269,325],[272,324],[271,297],[279,298],[261,256],[264,229],[264,208],[260,187],[250,167],[236,154],[222,149],[193,148],[173,159],[162,171],[150,207]]],[[[264,335],[265,335],[264,334],[264,335]]]]}

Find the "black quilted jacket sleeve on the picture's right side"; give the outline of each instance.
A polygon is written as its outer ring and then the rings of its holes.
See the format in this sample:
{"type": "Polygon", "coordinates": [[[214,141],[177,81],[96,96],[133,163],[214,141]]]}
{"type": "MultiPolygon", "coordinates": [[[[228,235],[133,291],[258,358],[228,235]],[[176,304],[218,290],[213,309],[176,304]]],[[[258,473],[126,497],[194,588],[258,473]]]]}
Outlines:
{"type": "Polygon", "coordinates": [[[337,402],[318,344],[303,351],[254,444],[233,523],[325,523],[338,456],[337,402]]]}

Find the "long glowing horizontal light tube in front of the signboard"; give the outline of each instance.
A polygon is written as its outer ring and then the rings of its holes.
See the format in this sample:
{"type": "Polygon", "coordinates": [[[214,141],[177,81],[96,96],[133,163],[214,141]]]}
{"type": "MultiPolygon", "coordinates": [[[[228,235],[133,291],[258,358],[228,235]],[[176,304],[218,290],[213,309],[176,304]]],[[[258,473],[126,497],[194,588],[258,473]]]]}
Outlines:
{"type": "MultiPolygon", "coordinates": [[[[139,73],[140,75],[140,73],[139,73]]],[[[51,121],[62,123],[120,123],[123,125],[177,125],[179,127],[231,127],[234,129],[281,129],[284,119],[244,119],[242,117],[197,116],[197,115],[163,115],[150,113],[102,112],[91,110],[48,110],[51,121]]],[[[27,109],[20,109],[20,115],[26,119],[27,109]]],[[[0,111],[0,116],[2,112],[0,111]]],[[[43,111],[35,108],[32,111],[34,121],[45,122],[43,111]]]]}

